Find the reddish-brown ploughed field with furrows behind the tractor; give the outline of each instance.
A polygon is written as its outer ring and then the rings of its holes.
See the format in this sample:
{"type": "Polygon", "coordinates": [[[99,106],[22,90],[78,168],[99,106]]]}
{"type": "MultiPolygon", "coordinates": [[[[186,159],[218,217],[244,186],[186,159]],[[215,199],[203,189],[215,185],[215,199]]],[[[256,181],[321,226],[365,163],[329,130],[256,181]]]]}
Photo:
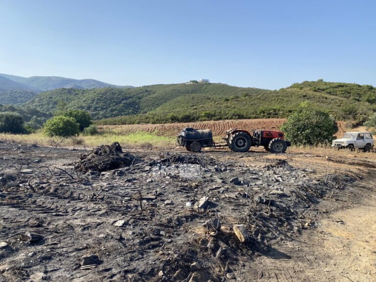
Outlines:
{"type": "MultiPolygon", "coordinates": [[[[99,130],[114,130],[120,134],[135,132],[153,133],[159,136],[175,136],[182,128],[193,127],[195,129],[211,129],[214,136],[222,137],[230,128],[245,130],[270,129],[279,130],[285,118],[256,118],[256,119],[226,119],[216,121],[179,122],[164,124],[124,124],[124,125],[100,125],[99,130]]],[[[345,132],[344,123],[338,122],[338,135],[345,132]]]]}

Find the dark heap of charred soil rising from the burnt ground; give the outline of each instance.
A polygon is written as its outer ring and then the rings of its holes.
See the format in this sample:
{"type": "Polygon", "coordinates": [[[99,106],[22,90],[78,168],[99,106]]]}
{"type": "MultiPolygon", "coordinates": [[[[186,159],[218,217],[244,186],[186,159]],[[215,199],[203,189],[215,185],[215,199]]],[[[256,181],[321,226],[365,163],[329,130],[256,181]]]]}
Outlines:
{"type": "Polygon", "coordinates": [[[101,145],[94,148],[88,154],[82,154],[80,161],[74,165],[74,169],[82,173],[89,170],[106,171],[134,164],[137,158],[132,154],[123,153],[118,142],[111,145],[101,145]]]}

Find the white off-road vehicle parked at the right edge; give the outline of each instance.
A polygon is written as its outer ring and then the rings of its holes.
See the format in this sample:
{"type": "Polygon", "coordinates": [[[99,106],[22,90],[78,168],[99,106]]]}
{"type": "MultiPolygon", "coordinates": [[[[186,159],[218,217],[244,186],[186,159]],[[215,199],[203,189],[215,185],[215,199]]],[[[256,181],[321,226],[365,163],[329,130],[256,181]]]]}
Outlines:
{"type": "Polygon", "coordinates": [[[369,152],[374,147],[374,140],[370,132],[346,132],[341,139],[333,140],[331,146],[338,149],[347,148],[351,151],[359,148],[369,152]]]}

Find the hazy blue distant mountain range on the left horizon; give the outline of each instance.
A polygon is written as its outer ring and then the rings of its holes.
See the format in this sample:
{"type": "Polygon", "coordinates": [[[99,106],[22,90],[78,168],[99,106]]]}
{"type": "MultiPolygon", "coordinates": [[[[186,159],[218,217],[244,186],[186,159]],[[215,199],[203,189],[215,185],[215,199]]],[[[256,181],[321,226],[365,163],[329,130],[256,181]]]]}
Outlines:
{"type": "Polygon", "coordinates": [[[0,104],[22,104],[44,91],[58,88],[94,89],[94,88],[133,88],[118,86],[95,79],[73,79],[60,76],[22,77],[0,73],[0,104]]]}

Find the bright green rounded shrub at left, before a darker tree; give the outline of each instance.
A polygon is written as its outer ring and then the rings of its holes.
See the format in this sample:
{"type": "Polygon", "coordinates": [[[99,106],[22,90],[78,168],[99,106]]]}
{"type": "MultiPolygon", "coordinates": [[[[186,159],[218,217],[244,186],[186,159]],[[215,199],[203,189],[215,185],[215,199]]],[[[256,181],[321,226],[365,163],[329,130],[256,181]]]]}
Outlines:
{"type": "Polygon", "coordinates": [[[74,118],[56,116],[48,119],[43,126],[43,134],[49,137],[69,137],[78,134],[79,124],[74,118]]]}

